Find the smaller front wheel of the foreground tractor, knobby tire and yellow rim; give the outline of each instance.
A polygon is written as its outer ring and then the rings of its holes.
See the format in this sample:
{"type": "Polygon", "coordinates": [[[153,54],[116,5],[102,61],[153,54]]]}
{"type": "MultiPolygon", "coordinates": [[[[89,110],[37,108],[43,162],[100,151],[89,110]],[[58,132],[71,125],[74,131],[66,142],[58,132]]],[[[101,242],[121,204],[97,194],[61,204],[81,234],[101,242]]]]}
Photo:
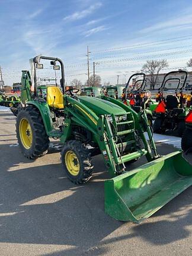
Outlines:
{"type": "Polygon", "coordinates": [[[78,140],[69,140],[61,152],[62,167],[72,183],[84,184],[92,175],[91,153],[78,140]]]}

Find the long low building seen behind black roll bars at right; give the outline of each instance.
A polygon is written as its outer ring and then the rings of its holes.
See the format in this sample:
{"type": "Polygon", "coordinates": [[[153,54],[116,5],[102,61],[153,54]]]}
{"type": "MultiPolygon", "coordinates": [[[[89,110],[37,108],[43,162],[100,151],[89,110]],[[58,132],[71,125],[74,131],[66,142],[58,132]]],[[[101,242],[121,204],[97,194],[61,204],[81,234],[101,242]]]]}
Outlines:
{"type": "MultiPolygon", "coordinates": [[[[164,79],[164,76],[166,75],[166,73],[159,73],[158,78],[156,80],[156,84],[155,84],[155,89],[158,89],[159,87],[161,87],[162,85],[162,81],[164,79]]],[[[180,78],[181,79],[181,85],[183,85],[184,82],[184,75],[181,74],[177,74],[177,75],[169,75],[167,78],[180,78]]],[[[149,79],[151,78],[150,75],[146,75],[146,89],[150,89],[150,85],[151,82],[149,81],[149,79]]],[[[176,89],[178,85],[178,81],[177,80],[169,80],[166,84],[165,84],[165,88],[167,89],[176,89]]],[[[180,85],[180,87],[181,87],[180,85]]],[[[188,77],[187,77],[187,81],[186,81],[186,85],[192,85],[192,71],[188,72],[188,77]]]]}

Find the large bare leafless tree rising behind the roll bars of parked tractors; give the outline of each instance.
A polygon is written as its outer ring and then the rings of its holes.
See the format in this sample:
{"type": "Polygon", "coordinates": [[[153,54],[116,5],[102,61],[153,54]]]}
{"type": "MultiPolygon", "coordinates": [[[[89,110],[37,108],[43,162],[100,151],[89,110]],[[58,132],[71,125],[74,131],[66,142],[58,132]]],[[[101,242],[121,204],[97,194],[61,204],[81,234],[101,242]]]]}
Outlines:
{"type": "Polygon", "coordinates": [[[167,68],[168,62],[166,59],[162,60],[147,60],[146,63],[142,66],[142,71],[149,73],[150,78],[148,78],[150,82],[150,88],[154,89],[156,81],[158,79],[159,72],[163,68],[167,68]]]}

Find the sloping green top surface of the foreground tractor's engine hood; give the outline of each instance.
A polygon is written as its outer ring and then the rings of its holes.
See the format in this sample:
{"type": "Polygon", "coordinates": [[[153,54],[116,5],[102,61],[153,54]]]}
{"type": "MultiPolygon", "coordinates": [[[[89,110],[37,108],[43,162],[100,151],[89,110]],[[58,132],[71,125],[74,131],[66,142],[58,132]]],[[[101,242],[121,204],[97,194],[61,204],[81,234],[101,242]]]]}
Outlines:
{"type": "Polygon", "coordinates": [[[100,98],[79,96],[79,101],[86,107],[90,108],[97,116],[100,114],[124,114],[126,111],[110,101],[100,98]]]}

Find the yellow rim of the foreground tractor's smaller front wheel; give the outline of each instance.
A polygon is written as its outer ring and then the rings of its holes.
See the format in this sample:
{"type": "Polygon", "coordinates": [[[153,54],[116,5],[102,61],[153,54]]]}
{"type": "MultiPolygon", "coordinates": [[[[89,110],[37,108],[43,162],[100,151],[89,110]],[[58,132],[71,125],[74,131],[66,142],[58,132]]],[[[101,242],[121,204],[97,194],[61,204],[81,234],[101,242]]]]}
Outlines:
{"type": "Polygon", "coordinates": [[[79,160],[73,151],[66,152],[65,165],[71,175],[76,176],[79,174],[79,171],[80,171],[79,160]]]}

